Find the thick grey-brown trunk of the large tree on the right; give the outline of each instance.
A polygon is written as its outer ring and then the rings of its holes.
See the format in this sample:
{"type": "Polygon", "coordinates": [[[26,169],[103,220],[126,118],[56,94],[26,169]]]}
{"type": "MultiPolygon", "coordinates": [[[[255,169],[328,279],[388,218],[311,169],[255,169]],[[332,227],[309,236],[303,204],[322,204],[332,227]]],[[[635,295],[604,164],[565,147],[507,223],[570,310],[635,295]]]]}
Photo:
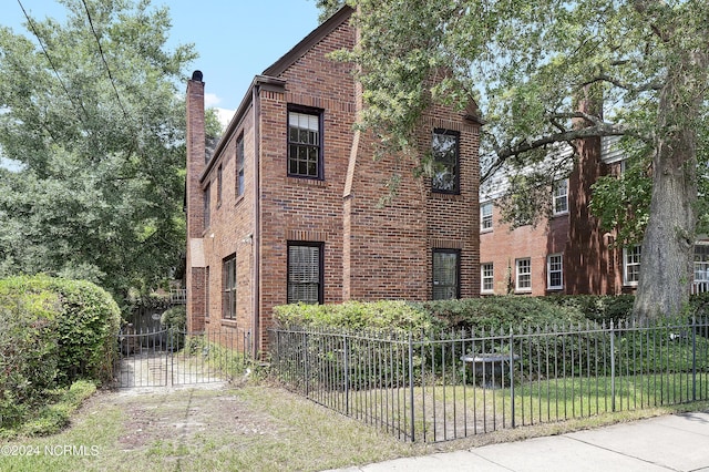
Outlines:
{"type": "Polygon", "coordinates": [[[653,196],[634,307],[638,319],[676,315],[689,300],[697,223],[697,129],[706,66],[705,54],[685,53],[669,64],[660,94],[653,196]]]}

